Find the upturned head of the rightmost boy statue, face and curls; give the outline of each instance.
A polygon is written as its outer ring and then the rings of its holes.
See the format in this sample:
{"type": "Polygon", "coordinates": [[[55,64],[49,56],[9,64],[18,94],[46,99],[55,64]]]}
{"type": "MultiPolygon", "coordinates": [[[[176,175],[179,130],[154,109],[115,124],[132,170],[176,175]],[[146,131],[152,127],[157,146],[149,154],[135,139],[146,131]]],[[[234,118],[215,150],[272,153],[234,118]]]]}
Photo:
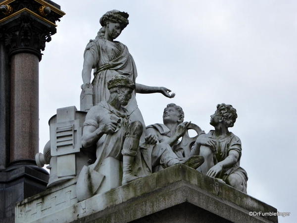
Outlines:
{"type": "Polygon", "coordinates": [[[223,123],[226,127],[233,127],[237,118],[236,109],[224,103],[217,105],[217,110],[210,115],[210,124],[215,126],[223,123]]]}

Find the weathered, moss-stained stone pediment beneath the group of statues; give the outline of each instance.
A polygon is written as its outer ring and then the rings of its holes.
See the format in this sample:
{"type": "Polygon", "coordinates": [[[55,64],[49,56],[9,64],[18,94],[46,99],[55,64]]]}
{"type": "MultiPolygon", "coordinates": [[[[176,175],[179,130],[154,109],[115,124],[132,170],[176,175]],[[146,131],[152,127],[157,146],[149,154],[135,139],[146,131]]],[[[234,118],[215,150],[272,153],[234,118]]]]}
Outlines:
{"type": "MultiPolygon", "coordinates": [[[[67,191],[67,187],[61,190],[67,191]]],[[[45,210],[50,196],[45,191],[18,203],[16,222],[277,222],[276,216],[248,215],[250,211],[277,212],[275,208],[184,165],[166,168],[76,204],[70,202],[64,208],[51,207],[52,211],[49,208],[44,215],[36,210],[35,216],[30,215],[37,205],[45,210]]]]}

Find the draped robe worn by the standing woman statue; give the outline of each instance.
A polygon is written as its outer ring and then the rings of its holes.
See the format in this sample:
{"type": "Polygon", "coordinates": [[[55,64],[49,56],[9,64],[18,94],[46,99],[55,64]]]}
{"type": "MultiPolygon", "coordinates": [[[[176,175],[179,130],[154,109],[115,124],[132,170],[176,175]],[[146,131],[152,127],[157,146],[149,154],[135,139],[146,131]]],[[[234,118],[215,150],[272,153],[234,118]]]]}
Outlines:
{"type": "MultiPolygon", "coordinates": [[[[107,89],[107,82],[114,75],[126,76],[135,84],[137,77],[135,62],[124,44],[118,41],[109,41],[104,38],[99,38],[90,41],[86,47],[85,53],[87,51],[91,52],[93,55],[94,79],[92,85],[94,106],[100,101],[108,101],[110,93],[107,89]],[[108,69],[102,67],[102,65],[106,63],[109,64],[108,69]]],[[[135,91],[126,109],[130,115],[130,121],[141,121],[145,128],[146,125],[143,116],[136,102],[135,91]]]]}

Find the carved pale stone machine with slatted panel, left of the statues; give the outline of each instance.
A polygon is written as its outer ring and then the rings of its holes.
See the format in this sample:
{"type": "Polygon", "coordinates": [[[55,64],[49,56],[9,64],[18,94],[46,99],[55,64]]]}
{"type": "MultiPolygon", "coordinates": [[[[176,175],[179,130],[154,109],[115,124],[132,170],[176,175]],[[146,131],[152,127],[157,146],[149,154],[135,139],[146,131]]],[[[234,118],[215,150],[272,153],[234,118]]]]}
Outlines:
{"type": "Polygon", "coordinates": [[[77,111],[75,106],[57,109],[49,119],[50,140],[44,154],[36,154],[39,167],[50,170],[48,188],[74,178],[84,165],[94,163],[93,150],[82,150],[82,126],[85,111],[77,111]]]}

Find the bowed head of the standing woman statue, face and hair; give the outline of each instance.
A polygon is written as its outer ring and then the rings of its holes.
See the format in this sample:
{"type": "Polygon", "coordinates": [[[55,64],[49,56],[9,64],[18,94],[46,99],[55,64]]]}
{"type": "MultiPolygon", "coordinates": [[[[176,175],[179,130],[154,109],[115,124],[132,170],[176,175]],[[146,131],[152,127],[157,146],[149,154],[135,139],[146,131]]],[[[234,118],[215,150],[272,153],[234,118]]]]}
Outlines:
{"type": "Polygon", "coordinates": [[[128,17],[129,14],[127,12],[121,12],[119,10],[106,12],[100,18],[102,28],[99,30],[96,39],[105,35],[106,28],[113,39],[117,38],[121,34],[122,30],[129,24],[128,17]]]}

